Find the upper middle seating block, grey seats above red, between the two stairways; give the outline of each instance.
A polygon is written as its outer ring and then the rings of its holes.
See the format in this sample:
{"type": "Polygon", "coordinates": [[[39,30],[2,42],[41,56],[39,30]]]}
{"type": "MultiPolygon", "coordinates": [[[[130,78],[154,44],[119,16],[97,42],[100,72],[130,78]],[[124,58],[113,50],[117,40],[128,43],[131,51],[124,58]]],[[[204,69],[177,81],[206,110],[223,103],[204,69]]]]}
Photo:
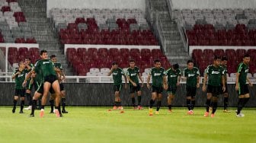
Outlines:
{"type": "Polygon", "coordinates": [[[158,45],[139,9],[68,9],[50,11],[62,44],[158,45]]]}

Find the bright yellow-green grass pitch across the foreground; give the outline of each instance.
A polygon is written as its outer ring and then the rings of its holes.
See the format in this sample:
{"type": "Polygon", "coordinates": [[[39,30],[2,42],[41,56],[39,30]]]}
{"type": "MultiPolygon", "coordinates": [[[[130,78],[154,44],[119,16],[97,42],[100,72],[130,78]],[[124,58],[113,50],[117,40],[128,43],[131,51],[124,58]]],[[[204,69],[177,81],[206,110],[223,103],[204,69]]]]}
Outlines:
{"type": "Polygon", "coordinates": [[[72,107],[63,118],[56,118],[46,107],[45,116],[28,117],[11,113],[11,106],[0,106],[0,142],[256,142],[256,110],[242,110],[245,117],[216,111],[216,116],[203,117],[204,108],[195,108],[194,116],[188,116],[186,108],[174,107],[168,113],[162,107],[159,115],[149,116],[149,110],[132,110],[125,107],[108,112],[110,107],[72,107]]]}

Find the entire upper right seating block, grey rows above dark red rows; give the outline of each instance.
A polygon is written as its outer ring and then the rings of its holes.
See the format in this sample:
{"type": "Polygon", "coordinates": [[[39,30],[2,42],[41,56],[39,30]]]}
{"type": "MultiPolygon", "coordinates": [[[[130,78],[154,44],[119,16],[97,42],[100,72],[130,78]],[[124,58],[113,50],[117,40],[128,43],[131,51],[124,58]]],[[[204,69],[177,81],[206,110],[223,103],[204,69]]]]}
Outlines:
{"type": "Polygon", "coordinates": [[[190,46],[255,46],[254,9],[182,9],[174,17],[182,21],[190,46]]]}

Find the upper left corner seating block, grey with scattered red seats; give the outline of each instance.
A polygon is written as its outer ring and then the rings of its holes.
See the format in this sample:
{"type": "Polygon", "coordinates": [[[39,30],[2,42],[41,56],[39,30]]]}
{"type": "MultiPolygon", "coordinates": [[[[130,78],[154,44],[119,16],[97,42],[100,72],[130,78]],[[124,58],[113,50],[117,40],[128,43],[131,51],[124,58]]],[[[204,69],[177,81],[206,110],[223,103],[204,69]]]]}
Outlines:
{"type": "Polygon", "coordinates": [[[37,43],[17,0],[0,1],[0,43],[37,43]]]}

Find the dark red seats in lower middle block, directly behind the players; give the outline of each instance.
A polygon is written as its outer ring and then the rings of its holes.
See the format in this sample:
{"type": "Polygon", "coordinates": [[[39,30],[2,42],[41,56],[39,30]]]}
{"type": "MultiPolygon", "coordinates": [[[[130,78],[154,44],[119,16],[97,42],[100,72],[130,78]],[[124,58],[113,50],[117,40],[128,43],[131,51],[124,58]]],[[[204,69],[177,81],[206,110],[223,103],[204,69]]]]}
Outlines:
{"type": "Polygon", "coordinates": [[[170,67],[166,56],[161,49],[117,49],[117,48],[68,48],[66,57],[69,65],[74,69],[75,75],[86,75],[90,68],[110,68],[111,63],[118,62],[121,68],[129,66],[129,60],[134,59],[136,65],[144,71],[145,68],[151,68],[155,59],[160,59],[162,66],[170,67]]]}

